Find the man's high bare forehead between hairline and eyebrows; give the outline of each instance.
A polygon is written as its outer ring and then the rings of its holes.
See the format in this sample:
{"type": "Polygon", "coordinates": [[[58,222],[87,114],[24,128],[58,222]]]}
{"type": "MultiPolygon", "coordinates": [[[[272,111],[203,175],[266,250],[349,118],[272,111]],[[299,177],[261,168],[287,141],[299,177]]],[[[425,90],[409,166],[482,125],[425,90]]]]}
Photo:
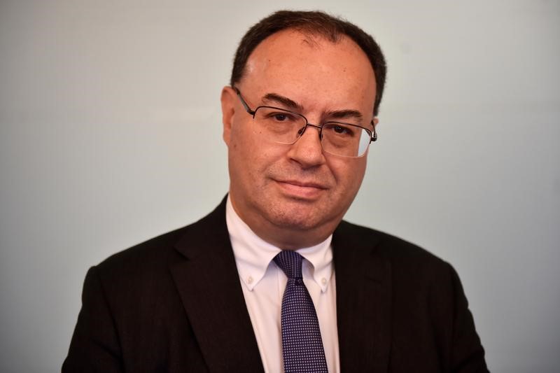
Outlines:
{"type": "Polygon", "coordinates": [[[313,108],[373,110],[375,77],[365,52],[349,37],[332,42],[292,29],[272,34],[248,58],[243,90],[275,92],[313,108]],[[350,108],[350,107],[346,107],[350,108]]]}

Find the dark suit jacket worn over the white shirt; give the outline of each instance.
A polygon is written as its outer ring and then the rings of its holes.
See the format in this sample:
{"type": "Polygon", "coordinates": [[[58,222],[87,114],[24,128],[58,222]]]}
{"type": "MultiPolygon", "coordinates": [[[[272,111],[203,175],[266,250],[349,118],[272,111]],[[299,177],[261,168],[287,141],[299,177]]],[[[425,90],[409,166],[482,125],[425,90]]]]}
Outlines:
{"type": "MultiPolygon", "coordinates": [[[[486,372],[449,264],[346,222],[332,248],[342,372],[486,372]]],[[[87,272],[62,372],[262,371],[225,200],[87,272]]]]}

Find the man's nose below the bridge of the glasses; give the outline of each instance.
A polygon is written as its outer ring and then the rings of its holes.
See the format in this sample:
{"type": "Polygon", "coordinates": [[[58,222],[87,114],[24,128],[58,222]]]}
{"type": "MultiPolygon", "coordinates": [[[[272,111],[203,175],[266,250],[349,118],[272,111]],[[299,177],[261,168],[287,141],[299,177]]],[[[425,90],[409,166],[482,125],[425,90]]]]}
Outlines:
{"type": "Polygon", "coordinates": [[[300,138],[290,146],[288,157],[306,169],[323,164],[325,155],[323,155],[320,133],[320,127],[308,124],[300,138]]]}

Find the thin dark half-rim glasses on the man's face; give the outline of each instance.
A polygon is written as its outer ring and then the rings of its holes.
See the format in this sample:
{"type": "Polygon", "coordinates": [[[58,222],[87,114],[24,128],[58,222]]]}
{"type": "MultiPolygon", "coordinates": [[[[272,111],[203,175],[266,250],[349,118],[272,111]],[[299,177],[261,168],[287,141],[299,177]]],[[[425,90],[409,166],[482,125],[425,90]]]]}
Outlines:
{"type": "Polygon", "coordinates": [[[254,131],[271,139],[275,143],[291,145],[300,139],[307,126],[319,129],[321,147],[327,153],[342,157],[362,157],[370,143],[377,140],[373,120],[370,129],[344,122],[324,122],[314,125],[299,113],[274,106],[257,106],[249,108],[237,87],[233,87],[247,113],[253,116],[254,131]]]}

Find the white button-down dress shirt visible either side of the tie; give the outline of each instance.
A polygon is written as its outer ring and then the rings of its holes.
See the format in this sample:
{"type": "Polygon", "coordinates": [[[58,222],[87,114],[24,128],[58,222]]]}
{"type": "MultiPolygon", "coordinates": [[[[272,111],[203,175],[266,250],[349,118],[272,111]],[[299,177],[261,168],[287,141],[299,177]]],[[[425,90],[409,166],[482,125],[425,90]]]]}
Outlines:
{"type": "MultiPolygon", "coordinates": [[[[241,288],[265,372],[283,372],[281,304],[288,279],[273,259],[280,248],[260,239],[233,209],[225,209],[241,288]]],[[[297,250],[303,260],[303,282],[317,311],[329,372],[339,372],[335,272],[332,235],[316,246],[297,250]]],[[[243,346],[239,346],[240,349],[243,346]]]]}

